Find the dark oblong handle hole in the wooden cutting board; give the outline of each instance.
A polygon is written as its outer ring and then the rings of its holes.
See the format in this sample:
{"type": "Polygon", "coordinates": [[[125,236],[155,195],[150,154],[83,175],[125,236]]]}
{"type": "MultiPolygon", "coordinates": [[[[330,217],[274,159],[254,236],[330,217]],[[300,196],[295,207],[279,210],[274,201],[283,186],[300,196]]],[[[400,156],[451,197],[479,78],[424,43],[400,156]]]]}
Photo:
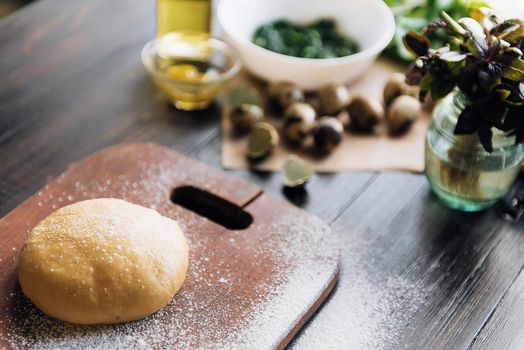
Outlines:
{"type": "Polygon", "coordinates": [[[177,187],[171,201],[230,230],[244,230],[253,223],[247,211],[193,186],[177,187]]]}

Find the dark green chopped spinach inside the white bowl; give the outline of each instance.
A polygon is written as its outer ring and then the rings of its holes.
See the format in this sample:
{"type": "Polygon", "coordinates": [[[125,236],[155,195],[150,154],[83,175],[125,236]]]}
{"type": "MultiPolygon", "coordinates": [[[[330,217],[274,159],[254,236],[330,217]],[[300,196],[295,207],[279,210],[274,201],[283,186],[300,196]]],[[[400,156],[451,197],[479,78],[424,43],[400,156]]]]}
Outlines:
{"type": "Polygon", "coordinates": [[[270,51],[304,58],[349,56],[359,51],[358,44],[339,33],[334,20],[323,18],[300,25],[279,19],[260,26],[253,42],[270,51]]]}

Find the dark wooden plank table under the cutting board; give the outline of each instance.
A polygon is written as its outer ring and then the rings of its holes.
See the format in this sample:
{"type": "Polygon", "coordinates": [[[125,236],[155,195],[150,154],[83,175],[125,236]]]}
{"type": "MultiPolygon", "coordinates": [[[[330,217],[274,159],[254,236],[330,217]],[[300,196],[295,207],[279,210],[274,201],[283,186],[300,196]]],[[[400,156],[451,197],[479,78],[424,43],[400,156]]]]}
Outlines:
{"type": "MultiPolygon", "coordinates": [[[[220,105],[170,107],[140,50],[154,2],[39,0],[0,21],[0,215],[104,146],[151,141],[220,166],[220,105]]],[[[292,347],[524,349],[524,230],[443,207],[421,175],[235,171],[329,222],[341,279],[292,347]]],[[[285,312],[285,310],[282,310],[285,312]]]]}

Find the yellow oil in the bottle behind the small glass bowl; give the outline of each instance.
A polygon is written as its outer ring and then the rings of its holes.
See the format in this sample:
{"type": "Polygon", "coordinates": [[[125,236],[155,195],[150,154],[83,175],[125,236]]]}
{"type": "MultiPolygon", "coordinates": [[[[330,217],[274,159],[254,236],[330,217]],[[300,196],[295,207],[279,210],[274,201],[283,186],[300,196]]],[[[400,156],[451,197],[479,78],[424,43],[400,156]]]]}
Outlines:
{"type": "Polygon", "coordinates": [[[210,31],[211,0],[157,0],[157,36],[180,30],[210,31]]]}

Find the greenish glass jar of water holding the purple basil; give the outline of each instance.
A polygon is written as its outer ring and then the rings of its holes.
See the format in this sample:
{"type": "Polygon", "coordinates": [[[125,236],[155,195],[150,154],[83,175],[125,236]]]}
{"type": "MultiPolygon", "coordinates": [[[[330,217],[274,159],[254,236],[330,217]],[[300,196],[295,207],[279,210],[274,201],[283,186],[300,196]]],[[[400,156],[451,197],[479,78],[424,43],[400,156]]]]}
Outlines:
{"type": "Polygon", "coordinates": [[[478,134],[454,135],[467,97],[453,92],[437,105],[426,134],[425,174],[447,206],[479,211],[504,196],[517,177],[524,146],[493,128],[493,151],[484,150],[478,134]]]}

